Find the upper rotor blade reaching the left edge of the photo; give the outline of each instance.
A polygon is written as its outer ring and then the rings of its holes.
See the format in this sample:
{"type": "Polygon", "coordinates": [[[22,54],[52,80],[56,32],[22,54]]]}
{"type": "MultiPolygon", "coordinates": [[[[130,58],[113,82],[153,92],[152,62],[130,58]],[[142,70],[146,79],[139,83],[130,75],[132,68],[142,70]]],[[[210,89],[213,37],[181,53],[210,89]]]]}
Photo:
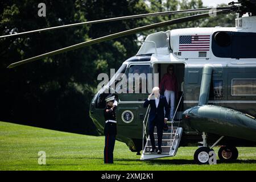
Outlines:
{"type": "Polygon", "coordinates": [[[57,30],[57,29],[60,29],[60,28],[76,27],[76,26],[81,26],[81,25],[85,25],[85,24],[113,22],[113,21],[116,21],[116,20],[126,20],[126,19],[132,19],[132,18],[144,18],[144,17],[147,17],[147,16],[171,15],[171,14],[178,14],[178,13],[197,13],[197,12],[208,11],[208,10],[212,10],[212,9],[214,9],[214,10],[226,10],[226,9],[230,9],[230,7],[216,7],[216,8],[201,8],[201,9],[178,10],[178,11],[164,11],[164,12],[158,12],[158,13],[147,13],[147,14],[139,14],[139,15],[121,16],[121,17],[116,17],[116,18],[100,19],[100,20],[93,20],[93,21],[89,21],[89,22],[73,23],[73,24],[66,24],[66,25],[63,25],[63,26],[42,28],[42,29],[38,29],[38,30],[20,32],[20,33],[17,33],[17,34],[2,35],[2,36],[0,36],[0,38],[7,38],[7,37],[10,37],[10,36],[31,34],[31,33],[35,33],[35,32],[43,32],[43,31],[48,31],[48,30],[57,30]]]}

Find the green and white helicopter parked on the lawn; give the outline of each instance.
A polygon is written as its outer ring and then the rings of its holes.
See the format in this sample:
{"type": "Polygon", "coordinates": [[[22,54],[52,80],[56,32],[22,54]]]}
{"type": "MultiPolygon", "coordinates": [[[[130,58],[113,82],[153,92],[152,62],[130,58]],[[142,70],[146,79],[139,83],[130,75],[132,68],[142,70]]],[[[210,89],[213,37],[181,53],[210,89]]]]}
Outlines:
{"type": "MultiPolygon", "coordinates": [[[[106,90],[111,91],[109,85],[123,81],[122,77],[117,78],[117,75],[128,76],[129,73],[138,70],[150,75],[147,80],[152,82],[151,86],[158,86],[160,78],[171,64],[179,83],[178,97],[174,118],[168,121],[168,130],[163,134],[162,154],[148,152],[151,146],[147,138],[147,117],[150,107],[144,108],[143,103],[151,92],[150,89],[139,93],[113,93],[118,100],[119,141],[126,143],[130,150],[137,152],[138,155],[143,151],[141,160],[174,156],[179,147],[201,144],[194,153],[195,162],[198,164],[209,163],[210,152],[215,146],[221,146],[218,157],[224,162],[238,158],[236,147],[255,147],[256,52],[253,43],[256,42],[256,1],[238,0],[228,5],[216,7],[210,14],[238,13],[236,27],[181,28],[148,35],[138,53],[124,61],[108,85],[102,86],[94,95],[90,103],[90,118],[98,130],[102,133],[104,130],[102,110],[106,105],[105,98],[110,94],[106,90]],[[243,16],[246,13],[249,16],[243,16]]],[[[82,24],[210,10],[212,8],[122,16],[3,35],[0,38],[82,24]]],[[[118,32],[18,61],[10,64],[8,68],[137,32],[208,18],[210,14],[185,16],[118,32]]]]}

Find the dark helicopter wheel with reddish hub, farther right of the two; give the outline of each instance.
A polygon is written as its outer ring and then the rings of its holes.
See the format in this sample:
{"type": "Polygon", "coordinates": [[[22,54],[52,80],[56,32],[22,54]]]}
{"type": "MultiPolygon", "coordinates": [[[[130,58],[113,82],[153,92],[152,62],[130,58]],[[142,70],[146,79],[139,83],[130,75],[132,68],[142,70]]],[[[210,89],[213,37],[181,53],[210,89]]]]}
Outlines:
{"type": "Polygon", "coordinates": [[[224,162],[236,160],[238,158],[238,150],[233,146],[221,146],[218,150],[218,158],[224,162]]]}

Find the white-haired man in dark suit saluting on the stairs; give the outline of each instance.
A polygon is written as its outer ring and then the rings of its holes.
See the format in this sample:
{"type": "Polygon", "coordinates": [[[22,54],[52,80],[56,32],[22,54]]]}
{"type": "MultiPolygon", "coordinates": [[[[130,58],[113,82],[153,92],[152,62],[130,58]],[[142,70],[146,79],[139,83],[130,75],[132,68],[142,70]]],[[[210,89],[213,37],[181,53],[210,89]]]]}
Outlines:
{"type": "Polygon", "coordinates": [[[168,104],[165,96],[160,95],[160,89],[154,87],[152,93],[148,96],[148,99],[144,102],[144,107],[150,105],[150,113],[148,118],[149,123],[149,135],[152,148],[150,152],[155,152],[155,138],[154,138],[154,128],[156,126],[158,133],[158,154],[162,153],[162,138],[163,138],[163,126],[167,122],[168,118],[168,104]],[[164,114],[164,110],[165,113],[164,114]]]}

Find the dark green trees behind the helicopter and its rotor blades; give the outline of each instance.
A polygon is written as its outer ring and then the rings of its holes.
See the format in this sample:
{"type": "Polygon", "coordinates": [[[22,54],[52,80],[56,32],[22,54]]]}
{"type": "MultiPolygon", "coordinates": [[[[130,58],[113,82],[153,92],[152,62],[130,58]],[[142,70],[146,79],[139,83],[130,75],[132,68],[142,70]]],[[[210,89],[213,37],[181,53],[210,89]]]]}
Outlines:
{"type": "MultiPolygon", "coordinates": [[[[117,16],[203,7],[201,0],[11,0],[0,2],[0,35],[14,34],[64,24],[117,16]],[[46,3],[46,17],[38,16],[38,3],[46,3]]],[[[7,65],[28,57],[71,46],[86,40],[162,22],[189,14],[119,20],[90,26],[0,39],[0,119],[82,134],[94,134],[89,104],[95,94],[99,73],[116,70],[139,49],[135,40],[156,31],[197,26],[231,26],[236,15],[221,15],[156,28],[109,40],[7,69],[7,65]],[[221,23],[219,23],[221,22],[221,23]]]]}

